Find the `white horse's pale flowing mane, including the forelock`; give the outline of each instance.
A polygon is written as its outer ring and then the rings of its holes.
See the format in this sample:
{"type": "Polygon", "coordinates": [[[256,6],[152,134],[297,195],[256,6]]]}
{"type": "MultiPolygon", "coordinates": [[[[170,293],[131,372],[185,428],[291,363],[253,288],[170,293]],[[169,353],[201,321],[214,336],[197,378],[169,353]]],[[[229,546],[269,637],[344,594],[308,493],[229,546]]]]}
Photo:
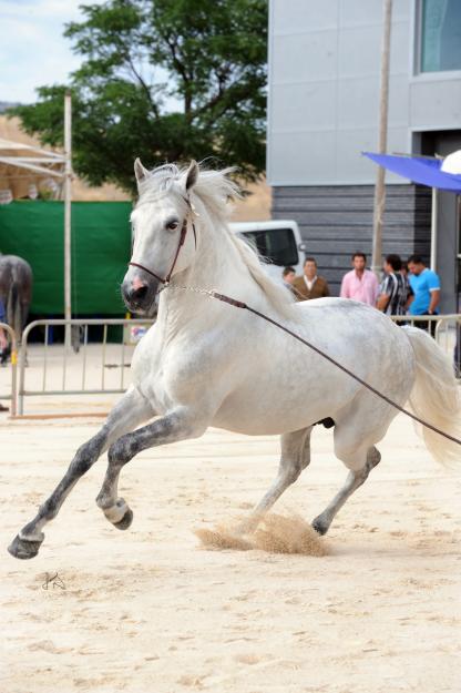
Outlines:
{"type": "MultiPolygon", "coordinates": [[[[263,289],[274,307],[286,316],[293,316],[293,295],[266,274],[264,259],[257,251],[228,227],[227,222],[232,211],[229,201],[235,197],[242,197],[239,186],[228,177],[234,171],[235,169],[232,167],[223,169],[222,171],[211,171],[201,165],[193,193],[197,195],[208,214],[213,217],[214,226],[225,233],[237,249],[253,279],[263,289]]],[[[165,164],[154,169],[140,184],[140,195],[142,197],[140,203],[148,202],[148,198],[166,191],[176,190],[180,192],[176,184],[182,179],[185,180],[186,172],[187,167],[178,167],[175,164],[165,164]]]]}

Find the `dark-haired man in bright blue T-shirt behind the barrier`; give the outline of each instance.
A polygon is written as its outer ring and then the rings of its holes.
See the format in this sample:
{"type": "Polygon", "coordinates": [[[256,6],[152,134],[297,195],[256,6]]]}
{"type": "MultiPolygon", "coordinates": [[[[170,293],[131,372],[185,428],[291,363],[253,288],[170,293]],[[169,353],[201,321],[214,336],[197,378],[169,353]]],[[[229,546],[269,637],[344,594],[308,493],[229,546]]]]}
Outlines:
{"type": "MultiPolygon", "coordinates": [[[[437,315],[440,303],[439,276],[426,266],[419,255],[412,255],[408,258],[408,269],[410,272],[410,286],[413,292],[409,309],[410,315],[437,315]]],[[[418,322],[416,325],[422,329],[428,329],[427,322],[418,322]]],[[[432,322],[431,334],[433,334],[434,328],[436,325],[432,322]]]]}

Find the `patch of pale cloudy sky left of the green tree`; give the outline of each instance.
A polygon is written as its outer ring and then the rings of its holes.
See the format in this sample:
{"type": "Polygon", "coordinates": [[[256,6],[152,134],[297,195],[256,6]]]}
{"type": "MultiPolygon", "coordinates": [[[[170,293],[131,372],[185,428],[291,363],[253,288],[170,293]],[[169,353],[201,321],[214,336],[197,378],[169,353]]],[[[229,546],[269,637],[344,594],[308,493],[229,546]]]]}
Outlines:
{"type": "Polygon", "coordinates": [[[32,103],[37,86],[63,83],[79,67],[62,33],[82,3],[103,0],[0,0],[0,101],[32,103]]]}

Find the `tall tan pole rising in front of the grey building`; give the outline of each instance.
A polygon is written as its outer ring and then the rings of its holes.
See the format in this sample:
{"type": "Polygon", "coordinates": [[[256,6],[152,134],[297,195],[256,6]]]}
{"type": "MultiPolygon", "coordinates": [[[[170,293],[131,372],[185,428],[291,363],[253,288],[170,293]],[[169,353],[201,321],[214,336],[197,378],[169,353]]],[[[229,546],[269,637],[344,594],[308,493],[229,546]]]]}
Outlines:
{"type": "MultiPolygon", "coordinates": [[[[389,103],[389,62],[390,62],[390,29],[392,18],[392,0],[383,0],[383,31],[381,44],[381,80],[379,98],[379,144],[380,154],[386,153],[388,141],[388,103],[389,103]]],[[[380,277],[382,261],[382,217],[386,203],[386,170],[378,166],[375,185],[373,212],[373,245],[371,269],[380,277]]]]}

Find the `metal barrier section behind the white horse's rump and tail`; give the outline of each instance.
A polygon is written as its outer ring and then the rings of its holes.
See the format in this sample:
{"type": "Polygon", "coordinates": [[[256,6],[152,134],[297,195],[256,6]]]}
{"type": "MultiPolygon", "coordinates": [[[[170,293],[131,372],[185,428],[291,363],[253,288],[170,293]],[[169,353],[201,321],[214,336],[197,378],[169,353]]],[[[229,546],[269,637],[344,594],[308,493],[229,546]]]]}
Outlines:
{"type": "Polygon", "coordinates": [[[461,376],[461,315],[392,315],[398,325],[422,327],[438,345],[453,359],[457,376],[461,376]]]}

